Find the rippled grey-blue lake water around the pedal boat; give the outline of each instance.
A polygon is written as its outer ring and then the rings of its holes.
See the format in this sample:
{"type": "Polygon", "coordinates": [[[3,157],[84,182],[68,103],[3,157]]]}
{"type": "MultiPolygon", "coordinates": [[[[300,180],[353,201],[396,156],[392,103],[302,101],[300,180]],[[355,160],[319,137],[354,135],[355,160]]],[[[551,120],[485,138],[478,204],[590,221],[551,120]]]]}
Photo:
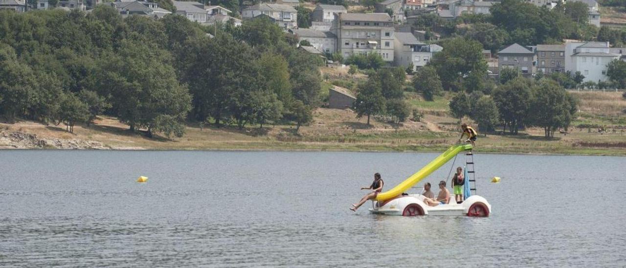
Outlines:
{"type": "Polygon", "coordinates": [[[0,266],[626,265],[624,157],[476,154],[488,218],[349,210],[436,156],[0,151],[0,266]]]}

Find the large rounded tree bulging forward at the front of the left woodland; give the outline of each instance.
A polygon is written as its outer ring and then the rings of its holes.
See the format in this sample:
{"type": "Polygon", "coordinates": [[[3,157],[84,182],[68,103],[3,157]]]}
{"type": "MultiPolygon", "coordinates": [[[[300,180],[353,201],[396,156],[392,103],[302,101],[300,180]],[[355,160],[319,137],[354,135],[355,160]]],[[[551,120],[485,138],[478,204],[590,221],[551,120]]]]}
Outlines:
{"type": "Polygon", "coordinates": [[[191,96],[167,64],[171,60],[167,51],[124,40],[115,54],[105,58],[98,86],[111,96],[112,111],[130,130],[146,128],[152,137],[166,127],[162,123],[184,123],[191,96]],[[173,120],[157,120],[159,116],[173,120]]]}

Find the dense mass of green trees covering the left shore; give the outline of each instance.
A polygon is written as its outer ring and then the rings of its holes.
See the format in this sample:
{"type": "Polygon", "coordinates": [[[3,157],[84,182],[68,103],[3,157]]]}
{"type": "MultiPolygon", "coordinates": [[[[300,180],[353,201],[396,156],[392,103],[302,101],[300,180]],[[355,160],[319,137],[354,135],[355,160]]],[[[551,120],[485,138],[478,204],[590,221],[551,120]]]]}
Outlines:
{"type": "Polygon", "coordinates": [[[0,11],[0,115],[90,124],[116,116],[148,136],[188,120],[261,126],[311,120],[323,61],[267,18],[205,27],[170,15],[0,11]]]}

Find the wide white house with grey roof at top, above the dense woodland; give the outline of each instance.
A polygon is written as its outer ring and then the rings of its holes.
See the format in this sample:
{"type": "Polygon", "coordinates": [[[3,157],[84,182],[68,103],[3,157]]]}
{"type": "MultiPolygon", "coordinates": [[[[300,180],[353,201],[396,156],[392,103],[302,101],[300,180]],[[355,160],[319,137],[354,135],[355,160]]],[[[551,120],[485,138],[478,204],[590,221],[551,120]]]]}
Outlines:
{"type": "Polygon", "coordinates": [[[252,19],[260,15],[268,16],[282,28],[298,28],[298,12],[292,6],[261,3],[245,8],[242,13],[244,19],[252,19]]]}

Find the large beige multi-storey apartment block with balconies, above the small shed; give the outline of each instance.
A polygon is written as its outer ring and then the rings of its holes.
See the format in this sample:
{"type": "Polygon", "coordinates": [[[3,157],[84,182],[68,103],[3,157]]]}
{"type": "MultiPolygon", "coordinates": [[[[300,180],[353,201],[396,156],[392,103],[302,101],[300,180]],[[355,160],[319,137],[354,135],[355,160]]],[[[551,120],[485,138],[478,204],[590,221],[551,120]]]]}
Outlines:
{"type": "Polygon", "coordinates": [[[394,61],[394,26],[387,13],[340,13],[331,28],[337,49],[350,54],[377,53],[387,63],[394,61]]]}

